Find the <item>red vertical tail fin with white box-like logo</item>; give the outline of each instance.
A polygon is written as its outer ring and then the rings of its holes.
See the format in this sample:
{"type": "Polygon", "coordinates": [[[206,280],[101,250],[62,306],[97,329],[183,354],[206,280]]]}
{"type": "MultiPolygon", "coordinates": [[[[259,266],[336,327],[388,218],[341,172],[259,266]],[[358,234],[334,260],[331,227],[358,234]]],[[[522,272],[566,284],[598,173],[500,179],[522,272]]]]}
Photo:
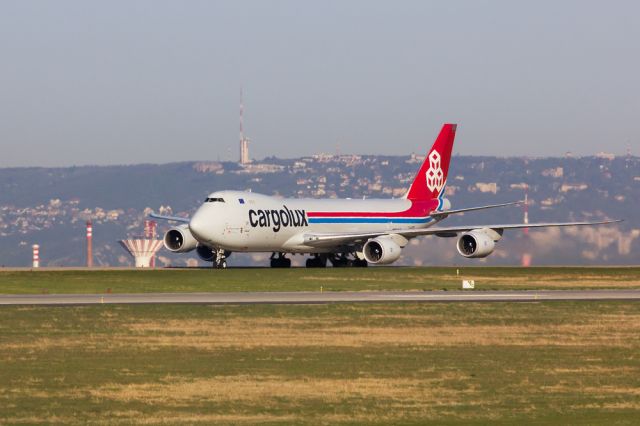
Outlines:
{"type": "Polygon", "coordinates": [[[430,200],[438,198],[444,190],[449,173],[449,161],[456,136],[456,124],[445,124],[422,163],[406,198],[409,200],[430,200]]]}

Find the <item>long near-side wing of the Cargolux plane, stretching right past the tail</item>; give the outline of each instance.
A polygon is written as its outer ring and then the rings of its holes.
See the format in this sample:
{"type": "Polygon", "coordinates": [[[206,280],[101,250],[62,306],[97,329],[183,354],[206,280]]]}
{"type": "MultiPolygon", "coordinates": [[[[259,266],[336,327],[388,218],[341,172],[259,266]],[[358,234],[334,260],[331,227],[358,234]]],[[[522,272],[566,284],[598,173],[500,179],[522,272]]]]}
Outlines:
{"type": "Polygon", "coordinates": [[[364,242],[369,238],[380,237],[382,235],[401,235],[405,238],[419,237],[423,235],[436,235],[439,237],[455,237],[459,233],[472,231],[474,229],[493,229],[502,234],[505,229],[523,228],[549,228],[560,226],[591,226],[605,225],[608,223],[622,222],[621,220],[604,220],[598,222],[548,222],[548,223],[515,223],[502,225],[471,225],[471,226],[450,226],[432,227],[422,229],[389,229],[376,232],[345,232],[345,233],[313,233],[304,234],[304,244],[313,247],[329,247],[340,244],[352,244],[364,242]]]}

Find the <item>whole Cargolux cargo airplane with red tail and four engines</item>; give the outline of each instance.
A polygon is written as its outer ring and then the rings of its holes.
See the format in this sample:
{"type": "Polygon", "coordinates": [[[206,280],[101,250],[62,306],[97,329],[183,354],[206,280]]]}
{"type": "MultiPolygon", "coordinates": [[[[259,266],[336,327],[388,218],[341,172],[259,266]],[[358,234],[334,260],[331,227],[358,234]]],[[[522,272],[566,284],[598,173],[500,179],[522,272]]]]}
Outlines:
{"type": "Polygon", "coordinates": [[[398,260],[409,240],[425,235],[458,237],[466,258],[484,258],[508,229],[603,225],[619,222],[559,222],[436,226],[450,215],[521,204],[521,201],[452,209],[444,197],[456,124],[444,124],[409,190],[397,199],[283,199],[242,191],[211,193],[191,218],[164,235],[174,253],[195,250],[216,268],[233,252],[267,252],[271,267],[288,268],[287,254],[310,257],[306,266],[365,267],[398,260]]]}

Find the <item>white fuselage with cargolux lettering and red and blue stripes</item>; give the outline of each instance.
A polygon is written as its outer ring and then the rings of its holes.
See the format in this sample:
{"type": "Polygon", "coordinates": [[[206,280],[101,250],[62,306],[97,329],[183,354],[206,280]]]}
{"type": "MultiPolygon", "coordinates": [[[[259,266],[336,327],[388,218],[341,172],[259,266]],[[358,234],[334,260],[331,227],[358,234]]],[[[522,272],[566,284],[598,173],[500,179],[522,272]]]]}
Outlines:
{"type": "Polygon", "coordinates": [[[429,213],[449,208],[446,199],[284,199],[240,191],[214,192],[189,223],[193,236],[215,249],[235,252],[333,252],[305,244],[313,233],[426,228],[429,213]],[[435,202],[435,203],[434,203],[435,202]]]}

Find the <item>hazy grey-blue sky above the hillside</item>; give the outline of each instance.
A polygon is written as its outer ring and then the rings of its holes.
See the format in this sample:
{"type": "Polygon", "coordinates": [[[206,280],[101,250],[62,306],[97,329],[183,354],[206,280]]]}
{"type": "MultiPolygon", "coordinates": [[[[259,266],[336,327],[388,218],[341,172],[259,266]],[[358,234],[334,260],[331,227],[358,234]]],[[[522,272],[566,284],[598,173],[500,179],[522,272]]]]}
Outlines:
{"type": "Polygon", "coordinates": [[[638,1],[2,1],[0,167],[640,155],[638,1]]]}

